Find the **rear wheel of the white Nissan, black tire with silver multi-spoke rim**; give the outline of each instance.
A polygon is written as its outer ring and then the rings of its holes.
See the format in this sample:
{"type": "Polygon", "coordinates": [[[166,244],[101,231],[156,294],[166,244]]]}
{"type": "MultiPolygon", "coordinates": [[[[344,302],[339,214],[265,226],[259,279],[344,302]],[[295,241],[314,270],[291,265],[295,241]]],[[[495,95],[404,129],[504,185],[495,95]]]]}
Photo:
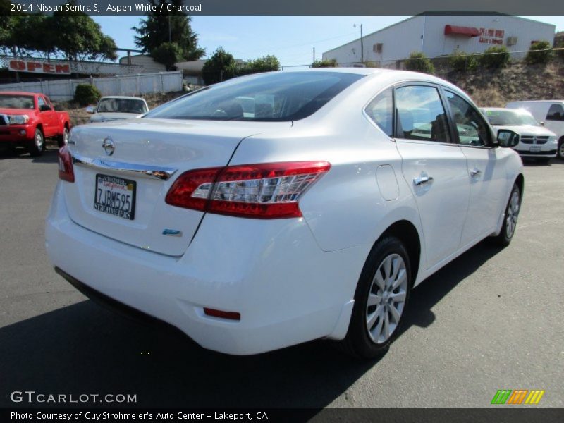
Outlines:
{"type": "Polygon", "coordinates": [[[365,359],[384,355],[400,332],[411,286],[405,246],[396,237],[382,238],[362,269],[348,332],[339,343],[341,350],[365,359]]]}

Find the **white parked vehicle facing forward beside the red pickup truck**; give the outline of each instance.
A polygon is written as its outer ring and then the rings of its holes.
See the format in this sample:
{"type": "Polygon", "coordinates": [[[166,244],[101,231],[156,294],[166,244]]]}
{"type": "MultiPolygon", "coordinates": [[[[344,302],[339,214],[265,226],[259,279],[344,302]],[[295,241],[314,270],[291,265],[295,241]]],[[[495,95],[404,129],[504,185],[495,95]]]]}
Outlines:
{"type": "Polygon", "coordinates": [[[149,107],[145,99],[141,97],[110,95],[102,97],[96,109],[89,106],[86,110],[94,114],[94,116],[90,118],[90,123],[97,123],[137,118],[147,113],[149,107]]]}

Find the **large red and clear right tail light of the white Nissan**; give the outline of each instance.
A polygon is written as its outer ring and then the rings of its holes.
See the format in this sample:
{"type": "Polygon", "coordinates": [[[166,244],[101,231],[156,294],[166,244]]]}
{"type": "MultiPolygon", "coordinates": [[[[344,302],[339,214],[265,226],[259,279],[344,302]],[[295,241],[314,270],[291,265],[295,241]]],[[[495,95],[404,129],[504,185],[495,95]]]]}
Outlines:
{"type": "Polygon", "coordinates": [[[326,161],[297,161],[197,169],[180,175],[165,201],[230,216],[300,217],[298,200],[330,168],[326,161]]]}

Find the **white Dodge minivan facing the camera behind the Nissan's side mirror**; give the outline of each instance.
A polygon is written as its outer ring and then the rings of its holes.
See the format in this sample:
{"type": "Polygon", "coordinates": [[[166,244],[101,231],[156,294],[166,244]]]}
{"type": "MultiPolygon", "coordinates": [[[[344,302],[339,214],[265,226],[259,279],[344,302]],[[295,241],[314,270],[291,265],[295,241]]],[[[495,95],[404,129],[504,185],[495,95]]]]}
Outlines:
{"type": "Polygon", "coordinates": [[[556,134],[535,121],[532,114],[525,109],[486,107],[482,111],[495,130],[511,129],[520,135],[520,142],[515,146],[515,151],[521,157],[545,163],[556,157],[556,134]]]}

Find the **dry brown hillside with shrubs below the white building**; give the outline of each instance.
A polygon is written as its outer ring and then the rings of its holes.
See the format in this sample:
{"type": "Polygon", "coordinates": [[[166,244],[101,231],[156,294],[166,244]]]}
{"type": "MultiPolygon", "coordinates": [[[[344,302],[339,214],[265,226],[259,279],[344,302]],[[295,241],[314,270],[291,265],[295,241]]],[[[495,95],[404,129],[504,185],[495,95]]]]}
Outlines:
{"type": "Polygon", "coordinates": [[[465,90],[481,107],[503,107],[516,100],[564,99],[564,59],[546,66],[516,63],[501,70],[440,76],[465,90]]]}

